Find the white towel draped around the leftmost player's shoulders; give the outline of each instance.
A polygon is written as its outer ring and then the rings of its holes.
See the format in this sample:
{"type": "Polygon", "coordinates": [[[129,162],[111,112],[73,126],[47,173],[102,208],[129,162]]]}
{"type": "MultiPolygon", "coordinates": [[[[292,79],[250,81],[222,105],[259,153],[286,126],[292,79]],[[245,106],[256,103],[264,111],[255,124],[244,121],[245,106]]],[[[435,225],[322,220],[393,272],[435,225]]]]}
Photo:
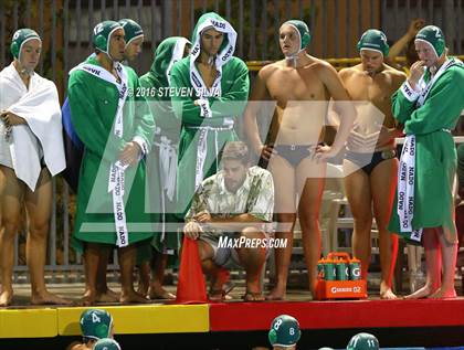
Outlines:
{"type": "Polygon", "coordinates": [[[56,86],[34,73],[27,89],[11,64],[0,73],[0,109],[9,110],[28,123],[12,128],[10,153],[17,177],[34,191],[42,155],[52,176],[66,167],[56,86]]]}

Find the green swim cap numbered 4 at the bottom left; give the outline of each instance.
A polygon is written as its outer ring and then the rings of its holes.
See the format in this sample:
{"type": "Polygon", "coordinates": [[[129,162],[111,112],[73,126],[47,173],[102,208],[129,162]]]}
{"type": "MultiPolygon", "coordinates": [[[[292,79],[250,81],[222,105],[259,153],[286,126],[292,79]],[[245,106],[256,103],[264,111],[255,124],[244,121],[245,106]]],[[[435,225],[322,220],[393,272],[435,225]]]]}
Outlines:
{"type": "Polygon", "coordinates": [[[112,330],[113,317],[102,309],[88,309],[81,316],[82,336],[92,339],[108,338],[112,330]]]}

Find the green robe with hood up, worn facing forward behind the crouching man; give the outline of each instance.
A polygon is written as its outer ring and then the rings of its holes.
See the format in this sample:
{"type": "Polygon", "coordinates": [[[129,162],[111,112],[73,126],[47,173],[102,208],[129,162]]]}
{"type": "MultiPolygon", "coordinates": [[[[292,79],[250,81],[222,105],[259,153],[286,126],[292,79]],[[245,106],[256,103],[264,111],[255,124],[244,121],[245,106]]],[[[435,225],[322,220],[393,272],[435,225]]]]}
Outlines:
{"type": "Polygon", "coordinates": [[[238,139],[233,124],[245,108],[250,79],[246,64],[232,56],[235,40],[236,32],[229,22],[213,12],[205,13],[193,30],[190,55],[176,63],[171,71],[171,86],[189,92],[172,97],[175,114],[182,125],[177,177],[178,215],[181,219],[196,188],[217,172],[218,156],[224,144],[238,139]],[[224,39],[214,57],[218,78],[208,89],[197,71],[196,60],[201,51],[201,32],[211,28],[224,33],[224,39]]]}

